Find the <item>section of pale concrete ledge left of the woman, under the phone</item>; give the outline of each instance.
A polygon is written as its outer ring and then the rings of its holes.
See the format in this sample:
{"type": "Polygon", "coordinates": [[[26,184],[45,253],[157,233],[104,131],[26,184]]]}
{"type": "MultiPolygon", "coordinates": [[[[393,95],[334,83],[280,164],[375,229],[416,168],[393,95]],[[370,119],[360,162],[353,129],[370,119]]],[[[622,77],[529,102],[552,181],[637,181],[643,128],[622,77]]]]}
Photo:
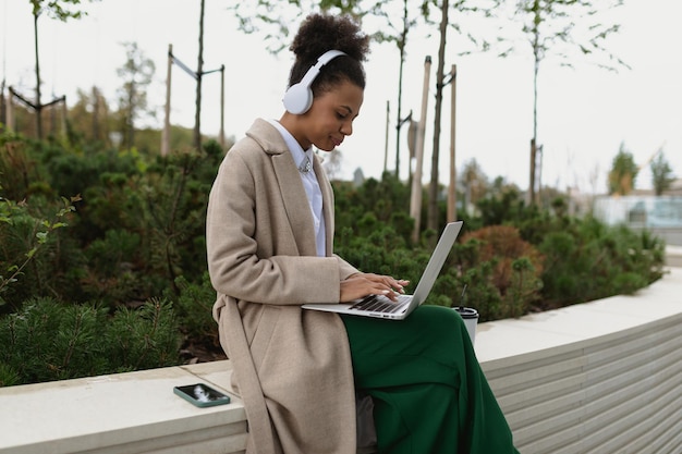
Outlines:
{"type": "Polygon", "coordinates": [[[0,453],[240,453],[246,414],[226,364],[0,388],[0,453]],[[173,386],[198,381],[232,403],[197,408],[173,386]]]}

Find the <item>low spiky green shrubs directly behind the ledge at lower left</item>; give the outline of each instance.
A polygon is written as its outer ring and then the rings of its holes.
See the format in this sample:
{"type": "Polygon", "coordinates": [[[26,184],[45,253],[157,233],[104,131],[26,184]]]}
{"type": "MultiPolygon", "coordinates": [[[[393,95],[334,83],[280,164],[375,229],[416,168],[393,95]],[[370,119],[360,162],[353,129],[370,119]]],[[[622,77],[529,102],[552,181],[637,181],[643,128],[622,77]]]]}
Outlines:
{"type": "Polygon", "coordinates": [[[0,319],[0,381],[20,384],[176,365],[180,339],[166,302],[110,316],[44,297],[0,319]]]}

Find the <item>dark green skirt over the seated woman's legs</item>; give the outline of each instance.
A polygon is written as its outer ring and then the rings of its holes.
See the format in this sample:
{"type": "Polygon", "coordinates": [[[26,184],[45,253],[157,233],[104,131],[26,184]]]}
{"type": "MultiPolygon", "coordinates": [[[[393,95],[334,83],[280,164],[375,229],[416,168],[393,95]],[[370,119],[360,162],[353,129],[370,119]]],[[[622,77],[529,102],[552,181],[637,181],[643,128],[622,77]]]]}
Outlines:
{"type": "Polygon", "coordinates": [[[379,453],[517,454],[461,317],[343,316],[355,386],[372,395],[379,453]]]}

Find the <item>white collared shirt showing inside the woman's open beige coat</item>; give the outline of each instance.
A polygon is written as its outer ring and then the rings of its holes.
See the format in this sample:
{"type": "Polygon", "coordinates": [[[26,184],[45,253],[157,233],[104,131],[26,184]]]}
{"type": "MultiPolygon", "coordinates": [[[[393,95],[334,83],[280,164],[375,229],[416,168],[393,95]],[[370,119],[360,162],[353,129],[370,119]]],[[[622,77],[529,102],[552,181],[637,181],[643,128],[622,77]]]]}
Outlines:
{"type": "Polygon", "coordinates": [[[315,175],[315,171],[313,170],[313,162],[315,157],[313,156],[313,148],[308,148],[307,150],[303,150],[303,147],[299,144],[299,142],[294,138],[293,135],[284,126],[280,124],[277,120],[268,120],[270,124],[272,124],[282,135],[289,150],[291,151],[291,156],[296,163],[299,169],[302,169],[305,164],[305,159],[309,159],[310,170],[309,172],[301,172],[301,182],[303,183],[303,188],[305,189],[305,195],[308,198],[308,204],[310,206],[310,212],[313,213],[313,222],[315,230],[315,245],[317,247],[317,255],[319,257],[325,257],[327,253],[327,236],[326,236],[326,226],[325,226],[325,217],[322,213],[322,192],[319,188],[319,182],[317,181],[317,176],[315,175]]]}

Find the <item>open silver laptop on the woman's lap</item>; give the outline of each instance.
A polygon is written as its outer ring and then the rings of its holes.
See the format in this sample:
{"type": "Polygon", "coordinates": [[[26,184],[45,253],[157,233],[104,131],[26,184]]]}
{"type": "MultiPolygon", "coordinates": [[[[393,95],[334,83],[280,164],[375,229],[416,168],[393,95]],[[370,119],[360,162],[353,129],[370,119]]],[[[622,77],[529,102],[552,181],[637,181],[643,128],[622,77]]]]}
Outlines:
{"type": "Polygon", "coordinates": [[[304,304],[302,307],[304,309],[325,310],[328,312],[402,320],[426,300],[461,230],[462,221],[451,222],[446,225],[413,295],[399,295],[397,302],[383,295],[368,295],[352,303],[304,304]]]}

